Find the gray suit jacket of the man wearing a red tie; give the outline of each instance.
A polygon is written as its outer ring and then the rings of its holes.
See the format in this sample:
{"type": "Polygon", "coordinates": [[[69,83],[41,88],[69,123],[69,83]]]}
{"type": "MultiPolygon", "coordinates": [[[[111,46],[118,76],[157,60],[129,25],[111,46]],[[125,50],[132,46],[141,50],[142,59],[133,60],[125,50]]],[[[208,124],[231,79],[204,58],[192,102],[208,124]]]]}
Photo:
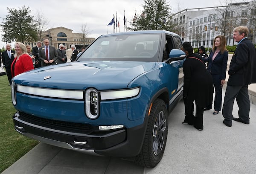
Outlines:
{"type": "Polygon", "coordinates": [[[45,64],[44,63],[44,60],[46,59],[45,57],[45,49],[44,49],[44,46],[42,46],[41,48],[39,48],[38,50],[38,60],[41,61],[41,66],[47,66],[47,65],[55,65],[56,64],[56,60],[58,58],[58,54],[57,54],[57,51],[55,49],[54,46],[49,46],[49,60],[54,60],[52,62],[52,64],[45,64]]]}

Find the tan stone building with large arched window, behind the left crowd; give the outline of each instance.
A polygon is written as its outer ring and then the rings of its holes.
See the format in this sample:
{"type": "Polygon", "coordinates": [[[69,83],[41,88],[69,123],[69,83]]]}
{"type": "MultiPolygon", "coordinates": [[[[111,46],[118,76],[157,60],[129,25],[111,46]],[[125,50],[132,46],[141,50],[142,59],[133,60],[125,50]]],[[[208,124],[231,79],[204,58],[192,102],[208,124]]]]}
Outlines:
{"type": "MultiPolygon", "coordinates": [[[[95,40],[95,38],[87,38],[84,37],[82,33],[73,33],[72,31],[72,29],[67,29],[62,26],[48,29],[42,33],[42,39],[48,38],[50,45],[55,48],[58,48],[59,44],[63,44],[67,49],[69,49],[70,46],[74,44],[78,50],[80,50],[84,45],[88,46],[95,40]]],[[[36,46],[36,42],[37,41],[34,41],[33,43],[28,42],[25,44],[29,44],[33,47],[36,46]]]]}

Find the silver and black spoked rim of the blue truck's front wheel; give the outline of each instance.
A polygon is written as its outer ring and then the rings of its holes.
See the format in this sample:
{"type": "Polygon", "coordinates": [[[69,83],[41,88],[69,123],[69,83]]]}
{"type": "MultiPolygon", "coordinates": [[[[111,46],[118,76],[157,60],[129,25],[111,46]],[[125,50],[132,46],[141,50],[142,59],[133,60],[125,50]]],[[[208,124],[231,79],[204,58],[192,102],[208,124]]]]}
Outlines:
{"type": "Polygon", "coordinates": [[[166,136],[166,118],[163,111],[157,114],[153,129],[153,152],[157,156],[163,149],[164,139],[166,136]]]}

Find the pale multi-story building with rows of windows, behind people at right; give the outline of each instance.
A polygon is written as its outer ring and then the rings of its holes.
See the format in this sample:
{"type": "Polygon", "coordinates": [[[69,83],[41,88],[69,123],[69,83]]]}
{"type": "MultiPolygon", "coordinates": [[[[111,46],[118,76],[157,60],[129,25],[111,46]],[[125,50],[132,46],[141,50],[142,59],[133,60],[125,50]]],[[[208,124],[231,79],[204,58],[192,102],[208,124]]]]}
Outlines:
{"type": "MultiPolygon", "coordinates": [[[[184,9],[173,14],[172,22],[183,41],[189,41],[193,47],[211,48],[217,35],[224,35],[227,45],[236,44],[233,40],[233,28],[245,25],[249,28],[248,38],[255,44],[256,4],[231,3],[227,6],[215,6],[198,9],[184,9]]],[[[254,2],[255,3],[255,2],[254,2]]],[[[208,50],[208,49],[207,49],[208,50]]]]}

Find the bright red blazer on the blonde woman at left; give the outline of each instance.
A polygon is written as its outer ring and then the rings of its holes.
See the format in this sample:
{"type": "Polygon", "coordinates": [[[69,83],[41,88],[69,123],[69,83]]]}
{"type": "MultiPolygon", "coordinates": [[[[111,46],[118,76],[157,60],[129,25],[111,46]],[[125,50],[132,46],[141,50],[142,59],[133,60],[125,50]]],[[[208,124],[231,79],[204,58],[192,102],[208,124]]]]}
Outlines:
{"type": "Polygon", "coordinates": [[[20,55],[19,60],[16,60],[17,57],[12,62],[12,77],[34,69],[32,58],[28,54],[20,55]],[[14,67],[13,64],[15,64],[14,67]]]}

